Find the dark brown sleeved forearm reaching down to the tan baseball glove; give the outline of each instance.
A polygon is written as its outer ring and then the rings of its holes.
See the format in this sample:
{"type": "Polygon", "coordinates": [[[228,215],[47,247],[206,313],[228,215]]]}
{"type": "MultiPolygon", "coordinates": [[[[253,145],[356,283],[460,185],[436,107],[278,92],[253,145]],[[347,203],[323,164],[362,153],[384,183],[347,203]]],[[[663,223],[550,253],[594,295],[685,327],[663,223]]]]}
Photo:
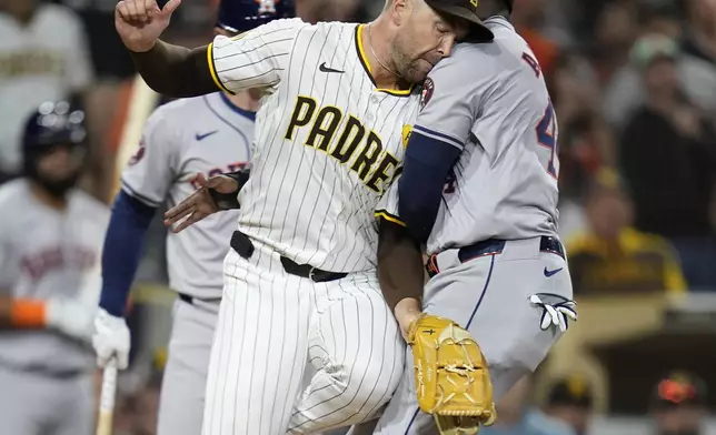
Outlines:
{"type": "Polygon", "coordinates": [[[406,227],[385,220],[380,222],[378,242],[378,281],[394,313],[396,308],[419,310],[424,285],[420,249],[406,227]]]}

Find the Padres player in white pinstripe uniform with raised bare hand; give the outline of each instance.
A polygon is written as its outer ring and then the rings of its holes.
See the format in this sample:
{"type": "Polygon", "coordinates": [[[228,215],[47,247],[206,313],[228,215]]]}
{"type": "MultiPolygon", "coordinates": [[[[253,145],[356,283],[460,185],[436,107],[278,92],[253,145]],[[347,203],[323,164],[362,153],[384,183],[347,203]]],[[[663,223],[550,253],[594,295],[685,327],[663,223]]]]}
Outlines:
{"type": "Polygon", "coordinates": [[[265,92],[225,260],[203,434],[361,422],[387,402],[404,362],[378,289],[372,213],[417,112],[411,83],[458,36],[493,34],[470,0],[390,0],[366,26],[277,20],[189,50],[158,40],[178,3],[117,7],[147,83],[173,97],[265,92]]]}

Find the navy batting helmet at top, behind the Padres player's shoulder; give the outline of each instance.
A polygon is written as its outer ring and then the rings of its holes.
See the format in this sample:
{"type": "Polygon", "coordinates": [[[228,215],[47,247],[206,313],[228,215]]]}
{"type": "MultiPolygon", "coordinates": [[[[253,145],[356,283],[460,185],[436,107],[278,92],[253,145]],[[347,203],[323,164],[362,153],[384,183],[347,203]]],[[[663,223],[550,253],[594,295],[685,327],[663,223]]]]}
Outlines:
{"type": "Polygon", "coordinates": [[[217,27],[241,33],[269,21],[296,17],[294,0],[221,0],[217,27]]]}

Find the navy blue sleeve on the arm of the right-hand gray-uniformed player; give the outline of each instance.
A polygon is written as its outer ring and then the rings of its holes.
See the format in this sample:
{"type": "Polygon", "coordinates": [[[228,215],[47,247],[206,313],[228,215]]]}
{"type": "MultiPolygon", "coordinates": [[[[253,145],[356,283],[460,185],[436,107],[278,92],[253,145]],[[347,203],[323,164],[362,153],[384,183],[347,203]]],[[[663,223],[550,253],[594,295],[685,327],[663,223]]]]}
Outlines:
{"type": "Polygon", "coordinates": [[[402,176],[398,181],[398,214],[419,243],[432,231],[442,200],[442,189],[450,170],[460,156],[457,146],[421,134],[410,134],[402,176]]]}

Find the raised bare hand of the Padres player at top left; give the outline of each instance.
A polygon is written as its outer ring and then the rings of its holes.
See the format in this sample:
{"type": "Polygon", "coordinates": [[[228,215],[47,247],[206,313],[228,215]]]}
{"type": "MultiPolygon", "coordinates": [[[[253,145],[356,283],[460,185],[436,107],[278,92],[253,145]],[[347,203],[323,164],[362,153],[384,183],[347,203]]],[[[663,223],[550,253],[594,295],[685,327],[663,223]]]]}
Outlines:
{"type": "Polygon", "coordinates": [[[115,8],[115,28],[130,51],[145,52],[155,47],[181,0],[169,0],[159,9],[156,0],[122,0],[115,8]]]}

